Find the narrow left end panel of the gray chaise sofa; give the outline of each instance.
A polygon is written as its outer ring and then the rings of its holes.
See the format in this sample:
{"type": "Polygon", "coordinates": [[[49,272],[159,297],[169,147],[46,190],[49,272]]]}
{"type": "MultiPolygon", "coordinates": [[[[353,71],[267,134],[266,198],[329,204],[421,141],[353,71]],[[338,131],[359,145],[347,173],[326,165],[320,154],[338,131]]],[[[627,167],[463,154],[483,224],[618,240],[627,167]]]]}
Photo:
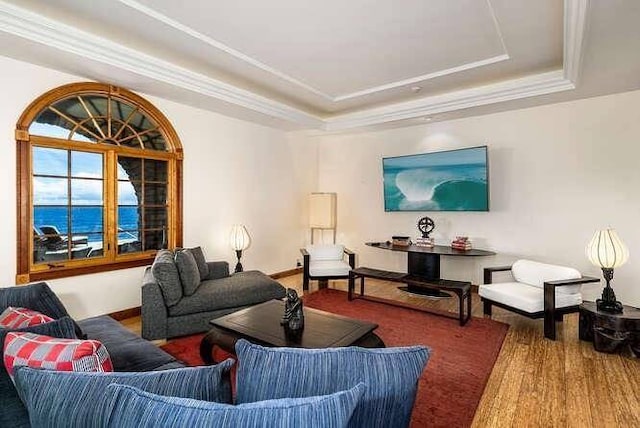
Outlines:
{"type": "Polygon", "coordinates": [[[165,339],[167,337],[167,306],[160,291],[160,285],[156,282],[148,267],[142,279],[142,305],[140,308],[142,318],[142,337],[147,340],[165,339]]]}

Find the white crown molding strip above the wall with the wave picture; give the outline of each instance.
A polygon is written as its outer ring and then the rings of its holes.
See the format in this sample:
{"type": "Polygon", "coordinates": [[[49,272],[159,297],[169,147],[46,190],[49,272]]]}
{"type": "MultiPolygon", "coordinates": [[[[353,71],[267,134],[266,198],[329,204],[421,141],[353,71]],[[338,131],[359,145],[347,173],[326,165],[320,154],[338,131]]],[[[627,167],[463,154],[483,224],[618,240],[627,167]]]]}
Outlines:
{"type": "Polygon", "coordinates": [[[325,120],[326,130],[342,131],[378,125],[570,89],[575,89],[575,86],[573,82],[564,78],[562,70],[551,71],[492,85],[448,92],[406,103],[392,104],[331,117],[325,120]]]}

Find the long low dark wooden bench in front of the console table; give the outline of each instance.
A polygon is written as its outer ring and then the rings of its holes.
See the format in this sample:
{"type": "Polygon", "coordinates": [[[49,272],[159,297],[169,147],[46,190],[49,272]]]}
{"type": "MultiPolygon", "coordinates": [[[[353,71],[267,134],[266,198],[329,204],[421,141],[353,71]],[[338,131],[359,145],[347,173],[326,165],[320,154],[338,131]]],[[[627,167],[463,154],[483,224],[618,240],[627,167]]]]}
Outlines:
{"type": "MultiPolygon", "coordinates": [[[[349,272],[349,300],[353,300],[355,294],[356,279],[360,278],[360,297],[364,297],[364,279],[373,278],[382,281],[400,282],[407,284],[409,291],[438,290],[450,291],[458,296],[458,319],[460,325],[465,325],[471,318],[471,283],[467,281],[451,281],[448,279],[427,280],[417,275],[388,270],[359,267],[349,272]],[[464,307],[467,311],[465,314],[464,307]]],[[[388,301],[386,301],[388,302],[388,301]]]]}

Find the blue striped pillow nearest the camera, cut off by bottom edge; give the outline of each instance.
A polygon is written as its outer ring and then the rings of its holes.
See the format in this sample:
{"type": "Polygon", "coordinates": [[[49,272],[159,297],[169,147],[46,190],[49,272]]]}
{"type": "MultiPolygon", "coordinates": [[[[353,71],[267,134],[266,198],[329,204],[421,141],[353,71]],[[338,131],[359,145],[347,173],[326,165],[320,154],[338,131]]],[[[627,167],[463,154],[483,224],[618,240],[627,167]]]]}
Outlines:
{"type": "Polygon", "coordinates": [[[286,398],[259,403],[208,403],[164,397],[124,385],[109,385],[107,427],[339,428],[346,427],[364,392],[359,383],[321,397],[286,398]]]}

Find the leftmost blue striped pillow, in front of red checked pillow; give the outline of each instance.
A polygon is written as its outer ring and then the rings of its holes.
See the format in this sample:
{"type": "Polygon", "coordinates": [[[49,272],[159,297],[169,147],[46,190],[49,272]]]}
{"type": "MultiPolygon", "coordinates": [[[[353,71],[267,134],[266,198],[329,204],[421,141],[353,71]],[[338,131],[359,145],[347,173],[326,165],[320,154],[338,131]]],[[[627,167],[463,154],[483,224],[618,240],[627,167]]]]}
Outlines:
{"type": "Polygon", "coordinates": [[[107,386],[133,385],[175,397],[231,403],[228,359],[215,366],[140,373],[78,373],[20,367],[18,394],[34,427],[100,427],[108,410],[107,386]]]}

